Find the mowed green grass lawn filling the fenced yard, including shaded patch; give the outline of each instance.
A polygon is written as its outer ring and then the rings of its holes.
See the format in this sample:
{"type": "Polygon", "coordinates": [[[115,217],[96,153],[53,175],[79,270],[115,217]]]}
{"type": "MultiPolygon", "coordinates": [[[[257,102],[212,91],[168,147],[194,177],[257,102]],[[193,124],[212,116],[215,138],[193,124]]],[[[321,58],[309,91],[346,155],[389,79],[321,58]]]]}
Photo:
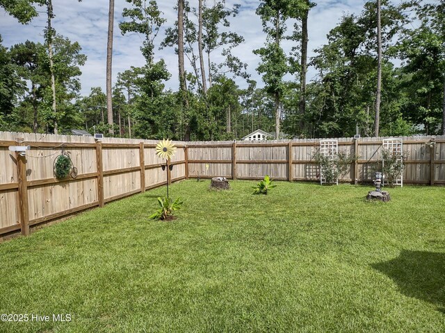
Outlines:
{"type": "Polygon", "coordinates": [[[445,332],[444,187],[209,183],[175,221],[162,187],[0,244],[0,314],[29,314],[0,332],[445,332]]]}

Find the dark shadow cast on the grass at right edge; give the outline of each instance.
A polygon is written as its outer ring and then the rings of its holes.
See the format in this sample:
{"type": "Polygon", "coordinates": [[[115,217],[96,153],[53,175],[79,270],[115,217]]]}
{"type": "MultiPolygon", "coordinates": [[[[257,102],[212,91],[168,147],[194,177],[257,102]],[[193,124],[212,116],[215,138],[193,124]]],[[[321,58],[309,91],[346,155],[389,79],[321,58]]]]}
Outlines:
{"type": "Polygon", "coordinates": [[[431,302],[445,313],[445,253],[402,250],[371,266],[394,280],[405,296],[431,302]]]}

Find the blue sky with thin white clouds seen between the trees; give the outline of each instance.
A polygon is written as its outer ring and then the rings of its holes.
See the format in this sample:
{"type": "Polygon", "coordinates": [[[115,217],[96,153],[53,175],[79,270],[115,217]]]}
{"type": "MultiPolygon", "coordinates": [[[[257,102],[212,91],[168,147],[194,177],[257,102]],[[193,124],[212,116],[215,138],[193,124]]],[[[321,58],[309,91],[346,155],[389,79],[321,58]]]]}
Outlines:
{"type": "MultiPolygon", "coordinates": [[[[210,2],[213,0],[207,0],[210,2]]],[[[327,33],[336,26],[341,17],[345,14],[362,11],[364,0],[319,0],[316,6],[309,12],[308,31],[309,44],[308,56],[314,56],[314,49],[327,43],[327,33]]],[[[159,0],[159,9],[163,12],[163,17],[167,20],[163,29],[173,26],[177,19],[177,12],[174,6],[175,0],[159,0]]],[[[197,6],[197,0],[189,0],[191,6],[197,6]]],[[[210,2],[211,3],[211,2],[210,2]]],[[[233,54],[241,58],[248,64],[248,73],[251,79],[257,80],[258,86],[262,86],[261,76],[256,68],[259,64],[259,56],[252,53],[252,50],[264,46],[266,35],[261,26],[261,19],[255,14],[259,1],[254,0],[227,0],[227,6],[234,3],[241,4],[237,17],[231,18],[230,30],[242,35],[245,42],[234,49],[233,54]]],[[[122,35],[118,27],[122,22],[122,9],[128,5],[123,0],[115,0],[115,22],[113,40],[113,84],[119,72],[129,69],[130,66],[143,66],[145,60],[140,53],[140,45],[143,37],[137,34],[122,35]]],[[[81,67],[81,94],[90,94],[92,87],[102,87],[105,91],[106,85],[106,40],[108,31],[108,0],[53,0],[54,14],[53,27],[56,32],[64,37],[68,37],[72,42],[76,41],[82,47],[82,53],[88,57],[86,64],[81,67]]],[[[28,25],[22,25],[13,17],[10,17],[3,8],[0,8],[0,35],[3,38],[3,46],[10,47],[14,44],[31,40],[43,42],[43,29],[46,24],[46,14],[44,8],[40,8],[42,13],[28,25]]],[[[291,28],[291,26],[289,26],[291,28]]],[[[163,31],[159,33],[156,44],[159,45],[163,39],[163,31]]],[[[285,50],[290,50],[292,44],[284,44],[285,50]]],[[[172,74],[170,80],[165,82],[167,89],[177,90],[178,69],[177,55],[174,49],[155,49],[155,61],[163,58],[168,70],[172,74]]],[[[218,56],[215,56],[218,60],[218,56]]],[[[186,64],[188,65],[188,64],[186,64]]],[[[191,71],[190,65],[186,70],[191,71]]],[[[308,80],[316,76],[313,68],[308,69],[308,80]]],[[[291,80],[291,76],[286,77],[291,80]]],[[[241,87],[246,87],[247,83],[242,78],[237,78],[236,83],[241,87]]]]}

